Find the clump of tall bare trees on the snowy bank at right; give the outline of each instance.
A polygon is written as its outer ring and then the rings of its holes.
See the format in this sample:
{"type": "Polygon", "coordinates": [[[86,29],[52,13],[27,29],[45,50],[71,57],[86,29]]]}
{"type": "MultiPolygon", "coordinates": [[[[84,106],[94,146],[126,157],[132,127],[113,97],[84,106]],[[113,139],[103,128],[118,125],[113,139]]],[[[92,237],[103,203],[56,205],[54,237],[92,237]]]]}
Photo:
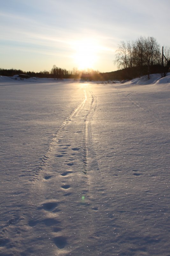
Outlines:
{"type": "Polygon", "coordinates": [[[124,69],[129,76],[161,73],[166,76],[170,65],[170,48],[165,46],[163,52],[157,40],[150,37],[140,37],[136,41],[122,41],[118,45],[115,64],[119,69],[124,69]]]}

